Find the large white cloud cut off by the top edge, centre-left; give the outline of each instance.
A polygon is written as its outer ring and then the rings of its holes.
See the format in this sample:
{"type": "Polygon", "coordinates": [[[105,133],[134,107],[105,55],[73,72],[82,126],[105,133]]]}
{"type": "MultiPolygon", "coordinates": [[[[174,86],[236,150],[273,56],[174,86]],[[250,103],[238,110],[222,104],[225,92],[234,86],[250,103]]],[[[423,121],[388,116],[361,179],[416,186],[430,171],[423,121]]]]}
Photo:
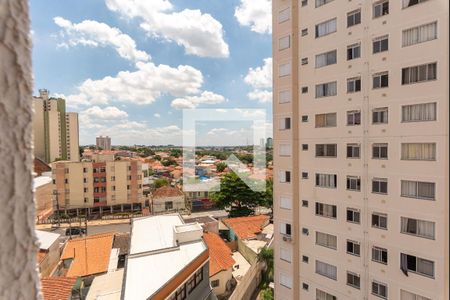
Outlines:
{"type": "Polygon", "coordinates": [[[200,10],[175,12],[169,0],[105,0],[107,7],[124,18],[142,20],[140,26],[150,36],[173,41],[187,54],[228,57],[222,24],[200,10]]]}

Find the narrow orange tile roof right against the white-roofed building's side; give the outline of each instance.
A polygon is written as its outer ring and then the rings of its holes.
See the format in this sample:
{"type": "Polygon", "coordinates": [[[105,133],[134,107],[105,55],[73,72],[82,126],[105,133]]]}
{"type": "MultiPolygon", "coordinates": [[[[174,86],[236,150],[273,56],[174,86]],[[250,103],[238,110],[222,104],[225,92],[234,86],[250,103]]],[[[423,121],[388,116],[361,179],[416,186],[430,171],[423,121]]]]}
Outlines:
{"type": "Polygon", "coordinates": [[[231,256],[231,249],[222,238],[213,232],[205,232],[203,239],[209,248],[209,276],[233,267],[235,261],[231,256]]]}

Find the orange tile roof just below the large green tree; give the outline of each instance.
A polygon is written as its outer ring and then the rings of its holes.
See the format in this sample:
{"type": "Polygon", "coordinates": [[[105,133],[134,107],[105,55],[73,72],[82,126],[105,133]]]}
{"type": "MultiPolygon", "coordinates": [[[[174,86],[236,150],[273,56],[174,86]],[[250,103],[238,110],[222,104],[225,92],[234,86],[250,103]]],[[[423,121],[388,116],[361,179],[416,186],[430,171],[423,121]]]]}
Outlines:
{"type": "Polygon", "coordinates": [[[263,226],[269,221],[269,216],[249,216],[225,219],[223,222],[229,228],[233,229],[234,233],[240,239],[248,239],[256,237],[256,234],[260,233],[263,226]]]}

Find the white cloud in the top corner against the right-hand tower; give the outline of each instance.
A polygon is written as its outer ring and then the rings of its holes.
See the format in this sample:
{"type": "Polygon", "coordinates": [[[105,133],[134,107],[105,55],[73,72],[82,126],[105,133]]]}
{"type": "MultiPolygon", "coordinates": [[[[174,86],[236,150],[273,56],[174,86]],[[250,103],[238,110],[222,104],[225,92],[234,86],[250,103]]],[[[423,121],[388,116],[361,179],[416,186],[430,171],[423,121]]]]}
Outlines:
{"type": "Polygon", "coordinates": [[[272,33],[272,1],[241,0],[234,16],[242,26],[257,33],[272,33]]]}

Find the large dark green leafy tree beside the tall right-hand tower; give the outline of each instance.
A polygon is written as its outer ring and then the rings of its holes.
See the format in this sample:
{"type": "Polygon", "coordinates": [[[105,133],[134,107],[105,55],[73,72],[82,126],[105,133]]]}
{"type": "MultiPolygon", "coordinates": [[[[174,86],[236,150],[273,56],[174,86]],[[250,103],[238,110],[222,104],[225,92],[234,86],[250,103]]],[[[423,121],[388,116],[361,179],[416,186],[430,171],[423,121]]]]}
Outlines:
{"type": "Polygon", "coordinates": [[[248,216],[256,206],[264,203],[265,193],[252,191],[234,172],[220,179],[220,191],[211,198],[221,208],[229,208],[230,216],[248,216]]]}

